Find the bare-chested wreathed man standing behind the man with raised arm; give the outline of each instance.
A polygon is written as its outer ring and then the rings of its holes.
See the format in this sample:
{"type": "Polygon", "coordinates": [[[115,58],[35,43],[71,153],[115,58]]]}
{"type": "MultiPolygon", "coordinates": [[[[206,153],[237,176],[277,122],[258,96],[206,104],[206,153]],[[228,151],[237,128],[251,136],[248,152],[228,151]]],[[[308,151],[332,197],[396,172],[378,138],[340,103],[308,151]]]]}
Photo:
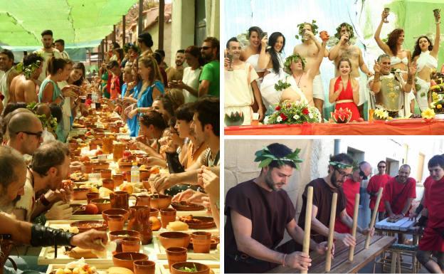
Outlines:
{"type": "MultiPolygon", "coordinates": [[[[314,68],[314,79],[312,79],[312,90],[310,93],[312,93],[312,98],[314,102],[314,106],[321,112],[322,114],[322,107],[324,106],[324,86],[322,85],[321,75],[319,73],[319,65],[317,65],[317,56],[319,53],[320,47],[318,46],[319,43],[314,43],[316,39],[311,39],[308,37],[307,31],[310,31],[313,35],[317,34],[317,26],[313,23],[302,23],[299,28],[299,35],[302,36],[302,43],[295,46],[293,49],[293,54],[299,54],[302,58],[305,58],[305,71],[310,70],[314,68]],[[313,29],[315,28],[315,29],[313,29]]],[[[317,41],[316,41],[317,42],[317,41]]],[[[327,49],[324,49],[324,53],[322,54],[322,57],[328,57],[329,52],[327,49]]],[[[322,62],[322,59],[321,59],[322,62]]],[[[303,88],[301,88],[302,91],[303,88]]],[[[309,98],[307,98],[309,99],[309,98]]]]}

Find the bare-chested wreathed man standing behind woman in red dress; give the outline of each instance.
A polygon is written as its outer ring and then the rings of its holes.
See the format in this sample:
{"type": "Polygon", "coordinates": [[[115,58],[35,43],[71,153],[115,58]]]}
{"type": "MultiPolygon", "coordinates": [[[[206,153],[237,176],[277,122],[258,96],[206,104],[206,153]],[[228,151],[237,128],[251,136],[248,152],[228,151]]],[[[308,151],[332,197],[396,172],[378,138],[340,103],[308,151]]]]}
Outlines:
{"type": "MultiPolygon", "coordinates": [[[[339,39],[339,43],[334,46],[329,52],[329,59],[334,60],[334,66],[337,67],[339,60],[341,58],[349,58],[351,61],[351,77],[355,78],[359,82],[359,70],[365,73],[367,76],[373,76],[373,73],[367,68],[366,63],[364,63],[364,58],[362,57],[361,49],[358,46],[351,45],[350,39],[354,37],[353,27],[348,23],[342,23],[337,28],[336,38],[339,39]]],[[[338,70],[336,70],[335,75],[339,75],[338,70]]],[[[364,87],[359,89],[360,102],[358,104],[359,114],[364,117],[364,102],[366,98],[366,90],[364,87]]]]}

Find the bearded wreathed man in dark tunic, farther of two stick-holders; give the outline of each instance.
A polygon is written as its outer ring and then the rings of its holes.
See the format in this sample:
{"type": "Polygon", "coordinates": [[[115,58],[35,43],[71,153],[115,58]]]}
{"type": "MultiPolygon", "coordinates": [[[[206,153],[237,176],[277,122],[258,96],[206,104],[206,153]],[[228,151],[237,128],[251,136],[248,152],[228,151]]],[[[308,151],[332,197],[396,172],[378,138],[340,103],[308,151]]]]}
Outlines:
{"type": "MultiPolygon", "coordinates": [[[[342,185],[351,175],[353,159],[349,155],[341,153],[330,157],[328,175],[324,178],[314,179],[305,186],[302,194],[302,210],[299,216],[298,225],[305,226],[305,208],[307,207],[307,189],[313,186],[313,209],[312,209],[312,238],[317,243],[327,241],[329,234],[330,209],[332,207],[333,193],[337,193],[336,216],[339,216],[342,223],[351,228],[353,219],[347,214],[347,199],[344,195],[342,185]]],[[[373,236],[374,228],[357,227],[357,231],[373,236]]],[[[345,246],[356,246],[356,238],[349,233],[334,232],[334,240],[342,241],[345,246]]]]}

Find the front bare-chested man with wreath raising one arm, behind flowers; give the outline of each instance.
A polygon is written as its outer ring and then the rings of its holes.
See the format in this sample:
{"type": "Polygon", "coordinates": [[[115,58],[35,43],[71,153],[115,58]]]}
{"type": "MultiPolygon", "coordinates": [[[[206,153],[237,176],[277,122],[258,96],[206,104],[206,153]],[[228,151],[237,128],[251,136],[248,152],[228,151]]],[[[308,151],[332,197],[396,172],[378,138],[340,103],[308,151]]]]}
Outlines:
{"type": "MultiPolygon", "coordinates": [[[[321,43],[317,41],[317,39],[314,37],[312,31],[306,31],[305,36],[314,43],[314,45],[317,47],[317,58],[314,59],[314,62],[312,62],[312,67],[307,68],[307,61],[305,58],[300,56],[299,53],[295,53],[292,56],[288,57],[285,61],[285,68],[290,73],[291,76],[289,76],[289,79],[287,79],[288,83],[292,84],[292,87],[295,86],[297,88],[300,88],[302,91],[302,94],[307,99],[307,102],[309,105],[314,105],[317,107],[316,102],[314,102],[314,78],[319,75],[319,65],[321,65],[322,58],[324,58],[324,52],[325,52],[325,46],[326,42],[328,40],[328,36],[325,36],[324,40],[321,43]]],[[[296,90],[295,88],[293,88],[296,90]]],[[[297,90],[296,90],[297,91],[297,90]]],[[[297,93],[289,94],[286,91],[282,93],[282,100],[290,100],[290,101],[297,101],[300,99],[297,99],[297,93]]],[[[303,100],[300,100],[303,101],[303,100]]],[[[322,101],[323,102],[323,101],[322,101]]],[[[319,109],[317,107],[319,112],[322,113],[322,107],[319,109]]]]}

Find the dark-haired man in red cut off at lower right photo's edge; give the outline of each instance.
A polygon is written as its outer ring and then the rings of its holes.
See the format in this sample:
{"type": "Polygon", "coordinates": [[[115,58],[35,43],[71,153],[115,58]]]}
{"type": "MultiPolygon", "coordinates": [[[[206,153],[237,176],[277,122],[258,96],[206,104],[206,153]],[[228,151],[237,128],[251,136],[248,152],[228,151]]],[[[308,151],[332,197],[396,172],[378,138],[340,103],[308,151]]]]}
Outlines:
{"type": "MultiPolygon", "coordinates": [[[[424,208],[428,210],[428,222],[419,241],[416,258],[430,273],[444,271],[444,157],[435,155],[428,161],[432,181],[424,191],[424,208]],[[437,262],[431,259],[435,255],[437,262]]],[[[429,177],[429,178],[430,178],[429,177]]]]}

